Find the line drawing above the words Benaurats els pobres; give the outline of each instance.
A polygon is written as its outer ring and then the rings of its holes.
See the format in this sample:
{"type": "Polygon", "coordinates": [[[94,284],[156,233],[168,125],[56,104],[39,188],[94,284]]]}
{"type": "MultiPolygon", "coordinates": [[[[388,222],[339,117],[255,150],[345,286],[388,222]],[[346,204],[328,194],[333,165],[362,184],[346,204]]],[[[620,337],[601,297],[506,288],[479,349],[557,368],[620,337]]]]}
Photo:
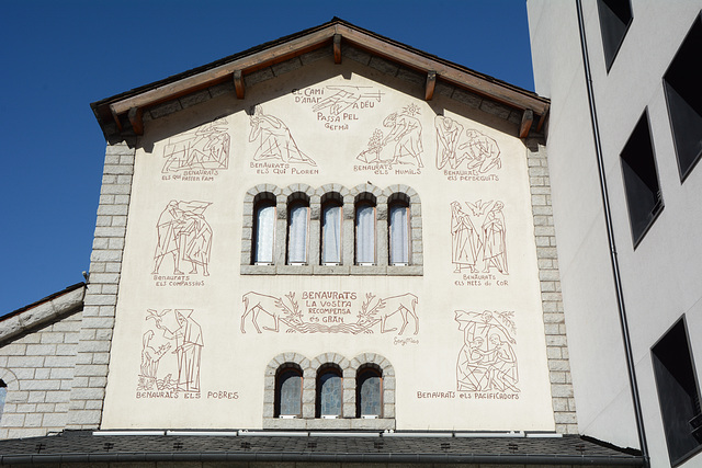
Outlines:
{"type": "Polygon", "coordinates": [[[148,309],[137,391],[200,392],[204,346],[193,309],[148,309]]]}

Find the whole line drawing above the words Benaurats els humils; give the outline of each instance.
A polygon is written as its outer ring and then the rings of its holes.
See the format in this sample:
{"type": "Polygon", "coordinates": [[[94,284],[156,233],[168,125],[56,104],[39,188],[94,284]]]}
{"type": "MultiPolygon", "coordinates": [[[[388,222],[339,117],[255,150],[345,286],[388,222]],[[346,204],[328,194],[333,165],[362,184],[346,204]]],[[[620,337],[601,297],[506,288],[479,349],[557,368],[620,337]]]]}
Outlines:
{"type": "Polygon", "coordinates": [[[386,116],[383,126],[387,128],[387,135],[384,135],[380,128],[373,130],[367,149],[356,159],[365,163],[383,163],[390,167],[411,164],[423,168],[421,123],[417,115],[419,115],[419,106],[409,104],[401,111],[386,116]]]}

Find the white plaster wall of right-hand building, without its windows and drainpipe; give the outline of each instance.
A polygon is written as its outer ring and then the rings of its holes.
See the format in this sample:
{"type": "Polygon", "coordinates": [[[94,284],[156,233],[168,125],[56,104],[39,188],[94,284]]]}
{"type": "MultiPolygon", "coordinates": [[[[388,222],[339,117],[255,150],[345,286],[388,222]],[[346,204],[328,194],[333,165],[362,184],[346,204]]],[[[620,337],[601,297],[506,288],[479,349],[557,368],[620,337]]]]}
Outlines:
{"type": "MultiPolygon", "coordinates": [[[[663,76],[700,1],[631,1],[633,20],[608,72],[598,2],[585,35],[614,240],[652,466],[669,466],[652,346],[684,316],[700,376],[702,171],[681,182],[663,76]],[[634,247],[620,153],[647,110],[665,207],[634,247]]],[[[552,100],[547,149],[579,431],[638,446],[590,124],[576,2],[529,0],[536,92],[552,100]]],[[[700,466],[700,456],[680,466],[700,466]]]]}

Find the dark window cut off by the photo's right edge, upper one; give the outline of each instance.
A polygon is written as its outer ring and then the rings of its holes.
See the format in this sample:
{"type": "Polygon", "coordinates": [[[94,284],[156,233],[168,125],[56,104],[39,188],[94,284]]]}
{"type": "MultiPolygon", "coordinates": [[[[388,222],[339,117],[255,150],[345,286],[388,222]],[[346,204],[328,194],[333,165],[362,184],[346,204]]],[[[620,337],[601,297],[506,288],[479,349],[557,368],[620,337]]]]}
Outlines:
{"type": "Polygon", "coordinates": [[[698,15],[663,78],[681,181],[702,156],[702,93],[698,69],[700,50],[702,22],[698,15]]]}

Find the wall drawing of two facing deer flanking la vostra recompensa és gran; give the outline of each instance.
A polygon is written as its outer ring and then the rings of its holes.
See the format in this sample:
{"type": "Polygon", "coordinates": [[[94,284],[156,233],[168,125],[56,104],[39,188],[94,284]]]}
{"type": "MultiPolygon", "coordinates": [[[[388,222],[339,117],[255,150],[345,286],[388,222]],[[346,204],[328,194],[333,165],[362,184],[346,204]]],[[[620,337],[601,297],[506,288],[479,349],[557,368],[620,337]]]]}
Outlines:
{"type": "Polygon", "coordinates": [[[299,306],[295,293],[284,297],[269,296],[249,292],[241,297],[244,310],[241,312],[241,333],[246,333],[247,322],[251,322],[258,333],[261,330],[279,332],[281,324],[287,333],[405,333],[410,322],[414,334],[419,333],[419,317],[417,304],[419,299],[414,294],[403,294],[377,298],[369,293],[355,313],[355,322],[348,321],[354,307],[353,294],[349,300],[306,300],[305,308],[299,306]]]}

